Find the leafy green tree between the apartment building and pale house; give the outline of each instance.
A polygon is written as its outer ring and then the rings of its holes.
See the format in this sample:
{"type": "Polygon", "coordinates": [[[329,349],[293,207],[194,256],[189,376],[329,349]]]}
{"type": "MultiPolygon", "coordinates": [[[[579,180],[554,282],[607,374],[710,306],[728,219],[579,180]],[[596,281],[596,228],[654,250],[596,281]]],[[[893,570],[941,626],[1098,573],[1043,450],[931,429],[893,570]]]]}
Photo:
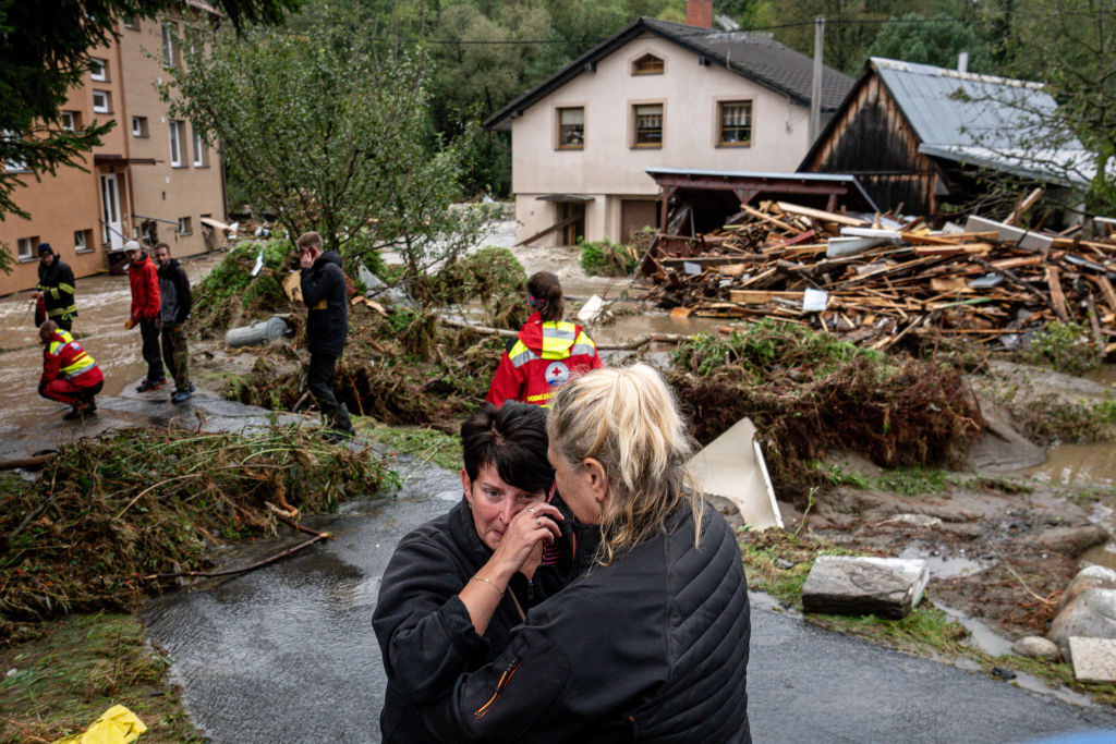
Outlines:
{"type": "Polygon", "coordinates": [[[385,51],[367,20],[315,6],[301,33],[253,28],[233,44],[193,29],[164,96],[290,235],[316,230],[343,255],[398,251],[419,276],[472,245],[498,207],[451,207],[462,146],[430,131],[426,55],[385,51]]]}

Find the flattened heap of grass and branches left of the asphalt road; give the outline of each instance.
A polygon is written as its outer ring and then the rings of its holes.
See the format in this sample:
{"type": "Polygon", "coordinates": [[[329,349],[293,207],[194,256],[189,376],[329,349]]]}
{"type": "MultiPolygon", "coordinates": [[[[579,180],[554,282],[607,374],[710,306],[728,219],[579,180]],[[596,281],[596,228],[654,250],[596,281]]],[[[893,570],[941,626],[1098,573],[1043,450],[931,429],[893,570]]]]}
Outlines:
{"type": "Polygon", "coordinates": [[[0,530],[11,548],[0,555],[0,615],[135,609],[146,589],[169,580],[157,574],[208,566],[214,532],[273,534],[268,503],[327,512],[395,482],[371,452],[299,426],[135,428],[77,439],[33,485],[0,481],[0,530]]]}

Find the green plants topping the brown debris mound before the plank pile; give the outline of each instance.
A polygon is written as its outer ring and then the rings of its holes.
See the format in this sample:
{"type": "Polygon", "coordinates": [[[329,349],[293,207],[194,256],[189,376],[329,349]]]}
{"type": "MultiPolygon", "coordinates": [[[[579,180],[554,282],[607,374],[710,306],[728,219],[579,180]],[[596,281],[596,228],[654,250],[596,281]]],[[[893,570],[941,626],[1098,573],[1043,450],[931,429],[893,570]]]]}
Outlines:
{"type": "Polygon", "coordinates": [[[763,318],[729,336],[702,334],[679,345],[674,364],[700,376],[732,367],[752,380],[769,379],[795,367],[825,375],[855,358],[884,363],[885,355],[843,341],[831,334],[763,318]]]}

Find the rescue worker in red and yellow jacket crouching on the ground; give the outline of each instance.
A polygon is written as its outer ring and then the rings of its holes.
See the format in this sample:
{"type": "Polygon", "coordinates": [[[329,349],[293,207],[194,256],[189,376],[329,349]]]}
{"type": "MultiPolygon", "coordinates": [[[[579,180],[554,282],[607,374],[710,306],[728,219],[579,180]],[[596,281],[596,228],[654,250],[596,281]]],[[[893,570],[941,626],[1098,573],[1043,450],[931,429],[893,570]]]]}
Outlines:
{"type": "Polygon", "coordinates": [[[96,395],[105,386],[100,367],[69,331],[59,328],[54,320],[39,327],[39,339],[45,347],[39,395],[68,403],[70,412],[62,416],[67,421],[95,415],[96,395]]]}

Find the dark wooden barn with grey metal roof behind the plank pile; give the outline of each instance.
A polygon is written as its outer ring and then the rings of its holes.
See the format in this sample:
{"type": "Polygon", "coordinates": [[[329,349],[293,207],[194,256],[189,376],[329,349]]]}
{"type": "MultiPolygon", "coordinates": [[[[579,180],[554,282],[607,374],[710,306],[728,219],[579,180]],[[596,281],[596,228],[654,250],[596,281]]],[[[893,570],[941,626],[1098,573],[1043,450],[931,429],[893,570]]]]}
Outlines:
{"type": "Polygon", "coordinates": [[[1035,83],[874,57],[798,170],[854,175],[884,210],[956,219],[989,171],[1036,175],[1008,153],[1033,126],[1022,112],[1054,106],[1035,83]]]}

